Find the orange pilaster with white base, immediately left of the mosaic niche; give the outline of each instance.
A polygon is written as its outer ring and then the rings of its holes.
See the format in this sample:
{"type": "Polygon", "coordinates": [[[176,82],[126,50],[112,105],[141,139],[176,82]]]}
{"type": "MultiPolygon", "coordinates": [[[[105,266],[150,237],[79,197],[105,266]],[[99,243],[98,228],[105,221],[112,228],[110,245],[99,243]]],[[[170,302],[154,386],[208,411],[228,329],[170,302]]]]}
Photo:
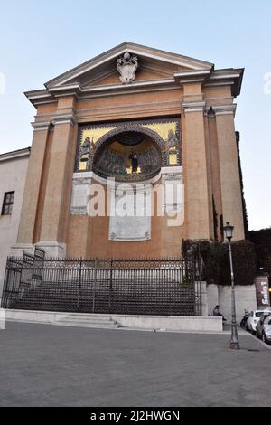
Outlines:
{"type": "Polygon", "coordinates": [[[51,144],[48,181],[45,191],[41,236],[38,243],[51,256],[66,255],[66,233],[70,213],[70,192],[76,149],[74,99],[59,99],[52,118],[54,134],[51,144]],[[63,105],[64,103],[64,105],[63,105]]]}

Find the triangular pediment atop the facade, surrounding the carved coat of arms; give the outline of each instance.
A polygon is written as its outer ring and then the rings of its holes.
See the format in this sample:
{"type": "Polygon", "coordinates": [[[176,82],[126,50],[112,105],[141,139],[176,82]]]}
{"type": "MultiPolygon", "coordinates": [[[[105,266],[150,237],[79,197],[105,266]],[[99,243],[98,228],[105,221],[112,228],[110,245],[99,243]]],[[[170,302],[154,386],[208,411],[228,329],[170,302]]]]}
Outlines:
{"type": "Polygon", "coordinates": [[[48,81],[48,89],[79,83],[81,87],[119,84],[117,59],[129,52],[138,60],[135,81],[173,79],[174,72],[211,70],[213,64],[139,44],[124,42],[48,81]]]}

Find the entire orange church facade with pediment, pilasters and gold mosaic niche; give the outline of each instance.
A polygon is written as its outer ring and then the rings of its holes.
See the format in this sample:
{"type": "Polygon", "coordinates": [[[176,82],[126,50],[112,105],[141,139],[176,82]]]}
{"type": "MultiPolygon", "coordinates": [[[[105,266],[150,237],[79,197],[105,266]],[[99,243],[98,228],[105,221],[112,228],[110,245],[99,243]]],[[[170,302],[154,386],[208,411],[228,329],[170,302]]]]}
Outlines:
{"type": "Polygon", "coordinates": [[[180,256],[244,239],[235,99],[243,69],[124,42],[26,92],[37,110],[14,255],[180,256]]]}

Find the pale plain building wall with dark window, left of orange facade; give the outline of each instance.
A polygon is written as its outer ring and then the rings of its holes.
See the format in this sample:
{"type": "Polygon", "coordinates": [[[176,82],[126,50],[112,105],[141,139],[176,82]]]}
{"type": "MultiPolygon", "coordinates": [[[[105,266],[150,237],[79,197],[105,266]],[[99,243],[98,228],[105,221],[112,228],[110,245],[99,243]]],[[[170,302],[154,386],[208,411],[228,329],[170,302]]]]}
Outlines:
{"type": "MultiPolygon", "coordinates": [[[[0,208],[5,192],[15,192],[13,212],[11,215],[0,215],[0,294],[5,277],[6,257],[10,248],[17,241],[20,215],[23,203],[23,191],[27,173],[29,156],[0,161],[0,208]]],[[[1,297],[0,295],[0,297],[1,297]]]]}

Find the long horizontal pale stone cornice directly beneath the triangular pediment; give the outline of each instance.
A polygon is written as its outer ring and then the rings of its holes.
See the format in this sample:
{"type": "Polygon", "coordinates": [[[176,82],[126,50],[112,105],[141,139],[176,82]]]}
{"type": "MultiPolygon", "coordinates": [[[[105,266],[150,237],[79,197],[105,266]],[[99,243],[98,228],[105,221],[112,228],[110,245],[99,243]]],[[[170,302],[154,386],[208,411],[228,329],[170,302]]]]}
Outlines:
{"type": "MultiPolygon", "coordinates": [[[[104,56],[106,59],[107,54],[104,56]]],[[[108,58],[107,58],[108,59],[108,58]]],[[[156,58],[157,59],[157,58],[156,58]]],[[[94,61],[95,62],[95,61],[94,61]]],[[[94,62],[91,62],[94,65],[94,62]]],[[[111,63],[111,62],[110,62],[111,63]]],[[[60,97],[74,96],[77,99],[101,98],[117,95],[129,95],[134,93],[145,93],[150,91],[159,90],[180,90],[180,87],[191,83],[201,83],[202,87],[221,87],[229,86],[233,97],[237,97],[240,92],[240,87],[243,78],[243,69],[224,69],[215,70],[213,66],[204,66],[204,62],[195,62],[197,66],[185,71],[169,72],[165,78],[158,78],[156,80],[135,80],[130,84],[103,84],[103,85],[84,85],[79,81],[70,81],[70,76],[73,74],[73,79],[76,78],[77,73],[69,71],[65,74],[67,78],[57,78],[51,80],[46,85],[45,90],[33,90],[25,92],[25,96],[33,103],[34,106],[56,102],[60,97]]],[[[206,64],[206,63],[205,63],[206,64]]],[[[90,62],[89,62],[90,65],[90,62]]],[[[110,71],[111,68],[106,61],[103,61],[103,70],[110,71]],[[107,69],[108,67],[108,69],[107,69]]],[[[94,66],[94,68],[96,65],[94,66]]],[[[90,66],[91,68],[91,66],[90,66]]],[[[86,72],[85,67],[79,67],[81,75],[83,70],[86,72]]],[[[88,71],[89,68],[88,68],[88,71]]],[[[102,71],[102,70],[101,70],[102,71]]],[[[105,71],[104,71],[105,72],[105,71]]],[[[90,79],[91,80],[91,79],[90,79]]]]}

